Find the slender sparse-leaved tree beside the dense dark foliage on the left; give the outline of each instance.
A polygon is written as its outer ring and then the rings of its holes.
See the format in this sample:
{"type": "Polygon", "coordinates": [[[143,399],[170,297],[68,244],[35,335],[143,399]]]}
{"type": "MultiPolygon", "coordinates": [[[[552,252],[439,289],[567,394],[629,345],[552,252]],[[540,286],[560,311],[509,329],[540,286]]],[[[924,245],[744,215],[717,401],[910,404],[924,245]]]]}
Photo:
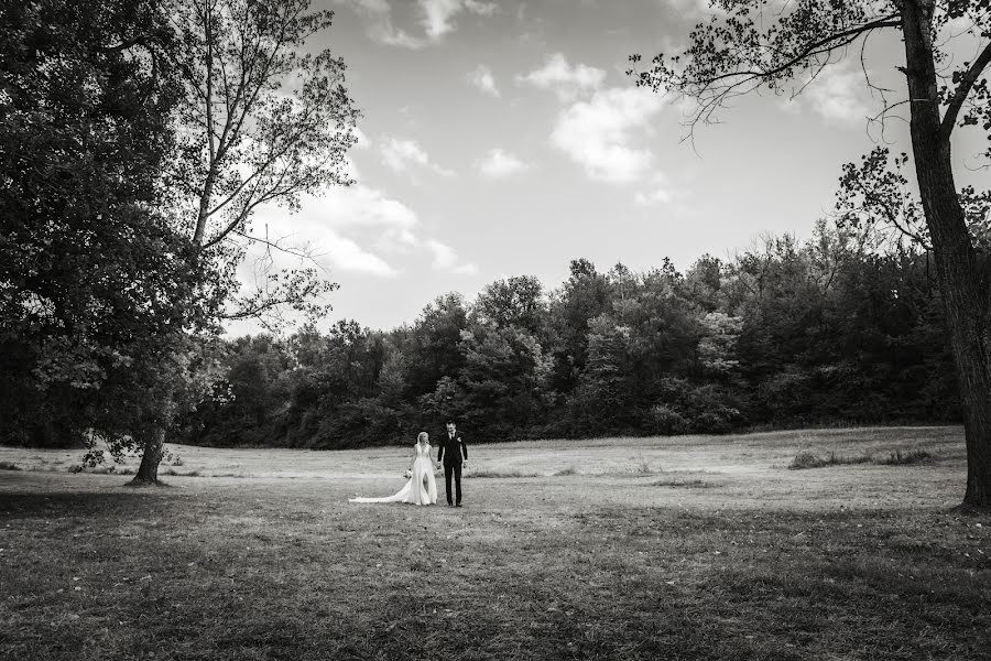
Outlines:
{"type": "MultiPolygon", "coordinates": [[[[217,274],[227,318],[272,318],[286,306],[309,315],[335,284],[313,267],[263,272],[252,289],[236,271],[251,243],[284,248],[252,234],[262,205],[298,208],[301,195],[347,185],[345,153],[358,112],[344,87],[344,62],[307,52],[330,29],[333,12],[309,0],[175,0],[181,47],[171,61],[184,95],[177,149],[167,173],[177,223],[217,274]]],[[[303,253],[300,253],[303,254],[303,253]]],[[[305,257],[305,254],[304,254],[305,257]]],[[[277,317],[276,317],[277,321],[277,317]]],[[[155,483],[165,429],[145,444],[134,480],[155,483]]]]}

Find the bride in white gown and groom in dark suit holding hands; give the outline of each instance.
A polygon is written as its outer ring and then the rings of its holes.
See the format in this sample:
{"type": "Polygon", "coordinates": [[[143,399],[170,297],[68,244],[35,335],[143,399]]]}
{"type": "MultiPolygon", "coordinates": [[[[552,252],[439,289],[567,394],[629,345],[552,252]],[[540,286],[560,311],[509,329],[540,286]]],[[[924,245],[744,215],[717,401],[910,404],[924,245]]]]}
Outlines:
{"type": "MultiPolygon", "coordinates": [[[[457,425],[448,421],[437,452],[437,467],[444,466],[444,484],[447,489],[447,506],[461,507],[461,467],[468,463],[468,446],[458,434],[457,425]],[[451,494],[454,478],[454,494],[451,494]],[[454,496],[454,499],[451,499],[454,496]]],[[[413,464],[406,472],[410,478],[399,492],[382,498],[350,498],[348,502],[412,502],[413,505],[436,505],[437,480],[434,479],[434,462],[431,460],[431,438],[426,432],[416,436],[413,446],[413,464]]]]}

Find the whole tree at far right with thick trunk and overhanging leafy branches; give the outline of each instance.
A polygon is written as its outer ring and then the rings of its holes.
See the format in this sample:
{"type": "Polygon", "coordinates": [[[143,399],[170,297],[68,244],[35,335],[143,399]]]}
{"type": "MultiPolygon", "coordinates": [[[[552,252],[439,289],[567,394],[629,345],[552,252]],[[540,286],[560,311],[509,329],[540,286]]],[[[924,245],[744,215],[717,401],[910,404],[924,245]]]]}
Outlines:
{"type": "MultiPolygon", "coordinates": [[[[718,11],[691,31],[683,53],[657,55],[647,71],[631,72],[640,85],[695,99],[693,126],[710,120],[736,96],[761,87],[781,90],[793,82],[801,85],[802,75],[818,75],[870,34],[893,31],[902,37],[900,69],[905,77],[915,183],[966,411],[963,505],[991,508],[991,286],[983,266],[987,256],[968,228],[950,151],[950,138],[959,127],[991,129],[987,78],[991,1],[711,0],[711,4],[718,11]],[[948,44],[960,34],[960,25],[978,50],[976,57],[957,64],[948,44]]],[[[635,66],[640,56],[631,59],[635,66]]],[[[891,107],[882,111],[886,110],[891,107]]],[[[991,147],[983,155],[991,158],[991,147]]],[[[987,209],[987,196],[976,197],[987,209]]]]}

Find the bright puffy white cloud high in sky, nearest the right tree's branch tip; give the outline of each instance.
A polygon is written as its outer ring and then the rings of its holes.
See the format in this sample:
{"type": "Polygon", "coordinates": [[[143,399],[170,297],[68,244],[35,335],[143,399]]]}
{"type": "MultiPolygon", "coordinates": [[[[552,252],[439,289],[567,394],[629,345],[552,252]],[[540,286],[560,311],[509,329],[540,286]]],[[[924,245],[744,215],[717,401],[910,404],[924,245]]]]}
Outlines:
{"type": "Polygon", "coordinates": [[[653,154],[634,147],[651,130],[664,100],[649,89],[616,87],[597,91],[558,116],[551,142],[595,180],[622,184],[650,172],[653,154]]]}

